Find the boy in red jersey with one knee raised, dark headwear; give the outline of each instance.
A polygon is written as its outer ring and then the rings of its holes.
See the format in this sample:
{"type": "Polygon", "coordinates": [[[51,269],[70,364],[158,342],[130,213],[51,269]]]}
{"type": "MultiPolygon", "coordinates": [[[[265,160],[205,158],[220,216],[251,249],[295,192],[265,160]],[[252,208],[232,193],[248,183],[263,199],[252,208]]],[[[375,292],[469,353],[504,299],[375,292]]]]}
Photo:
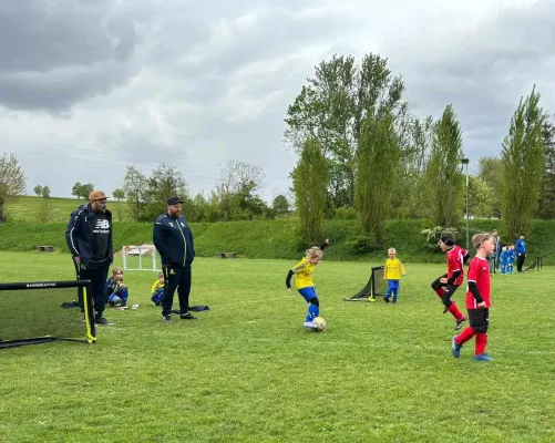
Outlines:
{"type": "Polygon", "coordinates": [[[470,254],[455,245],[455,237],[451,233],[441,233],[440,247],[448,260],[448,274],[439,277],[432,282],[432,289],[439,298],[443,301],[445,309],[443,313],[451,312],[455,319],[455,331],[461,329],[466,321],[466,317],[459,310],[455,302],[451,300],[456,288],[459,288],[464,280],[463,265],[470,257],[470,254]]]}

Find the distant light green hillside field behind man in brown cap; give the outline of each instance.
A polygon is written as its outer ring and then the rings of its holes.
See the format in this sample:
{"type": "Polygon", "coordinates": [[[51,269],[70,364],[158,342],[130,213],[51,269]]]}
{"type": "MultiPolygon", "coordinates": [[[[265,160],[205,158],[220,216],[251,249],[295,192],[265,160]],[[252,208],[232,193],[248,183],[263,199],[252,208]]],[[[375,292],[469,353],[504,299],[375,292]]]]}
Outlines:
{"type": "MultiPolygon", "coordinates": [[[[11,222],[35,223],[41,222],[40,214],[43,207],[44,199],[32,196],[19,196],[9,202],[6,206],[6,215],[11,222]]],[[[52,197],[48,200],[48,220],[50,223],[68,223],[70,214],[79,206],[86,204],[86,200],[76,198],[58,198],[52,197]]],[[[125,204],[119,202],[110,202],[110,209],[113,213],[114,220],[126,220],[129,217],[125,213],[125,204]]]]}

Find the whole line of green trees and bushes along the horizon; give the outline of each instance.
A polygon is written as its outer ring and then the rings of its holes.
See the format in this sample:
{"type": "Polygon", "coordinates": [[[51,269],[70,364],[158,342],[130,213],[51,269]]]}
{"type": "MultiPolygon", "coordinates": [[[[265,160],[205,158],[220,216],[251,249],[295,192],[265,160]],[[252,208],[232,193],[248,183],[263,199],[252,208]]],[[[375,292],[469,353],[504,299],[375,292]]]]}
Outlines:
{"type": "MultiPolygon", "coordinates": [[[[465,214],[496,217],[505,234],[527,234],[532,218],[555,217],[555,127],[535,86],[521,97],[499,156],[482,157],[465,188],[464,138],[452,104],[441,116],[410,113],[400,75],[388,60],[368,54],[333,55],[315,68],[285,119],[287,147],[298,155],[290,193],[268,204],[259,195],[264,172],[236,159],[220,166],[208,195],[191,195],[182,173],[162,164],[150,175],[126,167],[112,195],[125,202],[126,218],[152,222],[168,195],[185,199],[191,222],[225,222],[290,216],[299,222],[299,247],[317,244],[323,219],[358,218],[352,245],[382,247],[388,218],[420,218],[454,227],[465,214]]],[[[466,162],[467,163],[467,162],[466,162]]],[[[11,154],[0,157],[0,219],[6,202],[24,193],[23,172],[11,154]]],[[[75,183],[72,195],[88,198],[93,184],[75,183]]],[[[34,193],[50,197],[48,186],[34,193]]]]}

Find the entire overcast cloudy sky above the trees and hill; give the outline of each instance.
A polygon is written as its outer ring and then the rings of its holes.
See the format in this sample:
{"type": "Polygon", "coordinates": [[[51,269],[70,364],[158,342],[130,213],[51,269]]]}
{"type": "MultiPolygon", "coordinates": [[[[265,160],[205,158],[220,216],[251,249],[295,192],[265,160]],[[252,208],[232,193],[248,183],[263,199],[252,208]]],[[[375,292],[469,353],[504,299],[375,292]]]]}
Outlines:
{"type": "Polygon", "coordinates": [[[314,66],[370,52],[413,114],[453,104],[474,163],[534,83],[555,112],[555,0],[1,1],[0,153],[55,196],[161,162],[206,194],[236,158],[263,167],[269,200],[290,186],[284,117],[314,66]]]}

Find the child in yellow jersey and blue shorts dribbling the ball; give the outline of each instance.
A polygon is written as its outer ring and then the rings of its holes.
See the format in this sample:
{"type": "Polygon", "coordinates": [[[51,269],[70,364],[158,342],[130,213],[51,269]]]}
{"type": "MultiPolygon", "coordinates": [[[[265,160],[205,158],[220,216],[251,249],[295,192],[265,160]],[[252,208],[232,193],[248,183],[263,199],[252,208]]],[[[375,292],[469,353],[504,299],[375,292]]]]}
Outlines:
{"type": "Polygon", "coordinates": [[[295,265],[287,274],[287,279],[285,286],[287,290],[291,290],[291,277],[295,274],[295,282],[297,290],[305,298],[308,305],[308,313],[305,319],[305,328],[317,329],[314,322],[316,317],[320,316],[320,302],[318,296],[316,295],[315,284],[312,281],[312,274],[315,272],[315,267],[322,259],[322,250],[329,245],[329,238],[326,238],[326,243],[318,247],[314,246],[307,249],[306,256],[297,265],[295,265]]]}

